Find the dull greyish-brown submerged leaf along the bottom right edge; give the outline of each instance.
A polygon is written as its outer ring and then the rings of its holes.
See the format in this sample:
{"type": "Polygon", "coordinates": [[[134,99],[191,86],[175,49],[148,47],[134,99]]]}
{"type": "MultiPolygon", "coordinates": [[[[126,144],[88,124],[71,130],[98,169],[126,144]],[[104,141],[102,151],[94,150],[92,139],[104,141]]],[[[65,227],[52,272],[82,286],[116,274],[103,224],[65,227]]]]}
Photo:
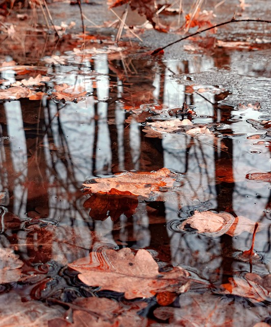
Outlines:
{"type": "Polygon", "coordinates": [[[185,327],[239,327],[251,326],[268,317],[268,307],[245,307],[243,303],[225,300],[210,292],[184,293],[179,296],[180,308],[160,307],[154,310],[158,319],[166,320],[161,326],[185,327]]]}

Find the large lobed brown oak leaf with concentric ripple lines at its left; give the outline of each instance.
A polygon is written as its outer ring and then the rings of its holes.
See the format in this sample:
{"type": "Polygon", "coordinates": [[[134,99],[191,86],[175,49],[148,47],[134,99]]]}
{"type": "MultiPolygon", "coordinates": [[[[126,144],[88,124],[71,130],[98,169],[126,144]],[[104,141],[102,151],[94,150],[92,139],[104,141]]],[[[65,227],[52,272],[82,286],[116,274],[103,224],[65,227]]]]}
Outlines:
{"type": "Polygon", "coordinates": [[[81,273],[78,276],[86,285],[123,292],[127,299],[152,297],[167,290],[178,291],[189,276],[181,267],[159,273],[158,264],[144,249],[138,250],[136,255],[130,248],[91,252],[87,258],[79,259],[69,267],[81,273]]]}

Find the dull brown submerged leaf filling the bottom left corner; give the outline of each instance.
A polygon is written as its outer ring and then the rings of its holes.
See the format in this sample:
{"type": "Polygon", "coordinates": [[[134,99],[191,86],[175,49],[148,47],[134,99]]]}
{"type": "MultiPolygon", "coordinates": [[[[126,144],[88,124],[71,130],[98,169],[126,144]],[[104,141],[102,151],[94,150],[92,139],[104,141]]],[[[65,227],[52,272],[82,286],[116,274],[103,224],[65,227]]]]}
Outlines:
{"type": "Polygon", "coordinates": [[[0,295],[0,302],[1,327],[47,327],[48,320],[62,317],[65,311],[60,306],[50,308],[34,300],[22,302],[14,293],[0,295]]]}

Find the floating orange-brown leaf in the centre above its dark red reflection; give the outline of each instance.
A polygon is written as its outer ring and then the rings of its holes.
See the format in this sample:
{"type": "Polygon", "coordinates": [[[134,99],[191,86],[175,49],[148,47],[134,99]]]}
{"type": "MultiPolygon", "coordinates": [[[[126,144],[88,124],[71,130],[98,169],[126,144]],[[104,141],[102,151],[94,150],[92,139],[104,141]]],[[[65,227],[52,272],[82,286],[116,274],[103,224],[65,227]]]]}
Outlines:
{"type": "Polygon", "coordinates": [[[141,196],[149,199],[152,196],[163,196],[164,192],[169,191],[177,175],[171,173],[169,169],[162,168],[157,172],[125,172],[115,174],[109,178],[95,178],[92,183],[83,184],[92,193],[107,193],[141,196]]]}

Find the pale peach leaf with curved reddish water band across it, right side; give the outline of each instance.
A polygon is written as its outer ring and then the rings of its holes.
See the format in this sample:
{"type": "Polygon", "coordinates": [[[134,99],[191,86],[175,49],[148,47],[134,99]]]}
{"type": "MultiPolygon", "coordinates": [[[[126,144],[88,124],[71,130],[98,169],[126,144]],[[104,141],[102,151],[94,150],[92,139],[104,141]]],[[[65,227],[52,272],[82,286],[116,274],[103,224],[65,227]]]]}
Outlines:
{"type": "MultiPolygon", "coordinates": [[[[195,211],[193,216],[183,221],[178,228],[186,230],[191,227],[209,237],[217,237],[223,234],[236,236],[243,231],[253,233],[255,222],[242,216],[234,218],[226,212],[195,211]]],[[[261,229],[258,228],[257,231],[261,229]]]]}

